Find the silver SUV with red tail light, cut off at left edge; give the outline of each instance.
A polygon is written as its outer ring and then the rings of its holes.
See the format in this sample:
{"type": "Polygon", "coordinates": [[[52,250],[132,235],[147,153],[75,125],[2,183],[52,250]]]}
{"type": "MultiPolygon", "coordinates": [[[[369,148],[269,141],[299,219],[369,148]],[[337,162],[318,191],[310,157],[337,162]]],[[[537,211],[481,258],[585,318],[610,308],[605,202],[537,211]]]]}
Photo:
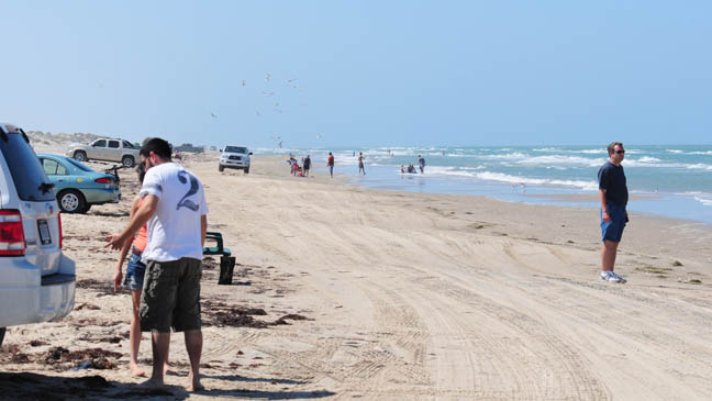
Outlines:
{"type": "Polygon", "coordinates": [[[62,253],[52,187],[24,131],[0,123],[0,344],[7,326],[74,308],[75,263],[62,253]]]}

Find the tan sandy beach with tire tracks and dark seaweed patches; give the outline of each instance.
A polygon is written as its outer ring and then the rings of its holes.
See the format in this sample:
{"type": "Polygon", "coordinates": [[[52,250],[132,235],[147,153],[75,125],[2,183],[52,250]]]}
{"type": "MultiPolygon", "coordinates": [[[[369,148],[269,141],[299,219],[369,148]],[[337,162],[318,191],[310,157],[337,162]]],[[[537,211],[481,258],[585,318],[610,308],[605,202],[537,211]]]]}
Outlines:
{"type": "MultiPolygon", "coordinates": [[[[632,214],[616,261],[628,283],[612,285],[598,280],[596,210],[364,189],[321,171],[292,177],[280,157],[255,155],[249,175],[219,172],[214,153],[185,165],[205,187],[209,231],[223,234],[237,261],[232,286],[218,285],[216,257],[204,263],[207,390],[182,388],[179,334],[166,391],[142,392],[129,375],[131,300],[113,292],[118,253],[103,248],[137,191],[123,170],[121,203],[63,215],[64,250],[77,263],[75,310],[9,327],[0,398],[712,393],[709,225],[632,214]]],[[[147,334],[141,359],[148,369],[147,334]]]]}

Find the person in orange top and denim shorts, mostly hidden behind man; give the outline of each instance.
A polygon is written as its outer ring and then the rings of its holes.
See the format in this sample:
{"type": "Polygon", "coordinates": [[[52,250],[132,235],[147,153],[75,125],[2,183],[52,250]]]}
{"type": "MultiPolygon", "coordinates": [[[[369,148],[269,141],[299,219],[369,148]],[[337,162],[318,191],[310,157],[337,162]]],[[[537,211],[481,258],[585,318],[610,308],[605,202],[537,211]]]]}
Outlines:
{"type": "MultiPolygon", "coordinates": [[[[136,166],[136,174],[138,175],[138,183],[143,183],[144,176],[146,175],[146,167],[143,164],[136,166]]],[[[131,203],[131,214],[130,219],[136,214],[138,208],[143,203],[143,199],[136,196],[133,202],[131,203]]],[[[131,360],[129,361],[129,368],[131,369],[131,376],[133,377],[143,377],[146,376],[146,372],[138,367],[138,348],[141,346],[141,321],[138,319],[138,307],[141,305],[141,292],[143,289],[144,275],[146,272],[146,265],[141,261],[141,255],[146,248],[147,243],[147,233],[146,226],[143,225],[135,236],[130,236],[129,240],[124,243],[119,254],[119,263],[116,264],[116,272],[114,274],[114,292],[119,289],[119,286],[122,285],[123,276],[123,264],[126,260],[126,255],[131,252],[131,257],[129,258],[129,265],[126,266],[126,276],[123,279],[123,285],[129,287],[131,290],[131,300],[133,302],[133,315],[131,316],[131,325],[129,326],[129,347],[131,360]]],[[[164,365],[164,372],[168,370],[168,359],[166,358],[166,364],[164,365]]]]}

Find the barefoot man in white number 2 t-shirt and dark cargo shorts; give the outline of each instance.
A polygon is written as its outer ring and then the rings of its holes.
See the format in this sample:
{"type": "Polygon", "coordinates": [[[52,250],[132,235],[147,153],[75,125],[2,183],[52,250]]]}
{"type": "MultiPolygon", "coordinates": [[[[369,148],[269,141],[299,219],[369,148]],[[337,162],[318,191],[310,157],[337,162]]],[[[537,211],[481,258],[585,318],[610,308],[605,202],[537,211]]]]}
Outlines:
{"type": "Polygon", "coordinates": [[[140,196],[143,204],[129,225],[107,240],[114,249],[146,224],[148,243],[142,255],[146,264],[141,297],[141,330],[152,332],[153,374],[144,387],[164,386],[170,327],[185,332],[190,358],[188,390],[197,391],[202,353],[200,278],[202,246],[208,227],[203,187],[182,166],[170,160],[170,145],[151,138],[141,147],[146,176],[140,196]]]}

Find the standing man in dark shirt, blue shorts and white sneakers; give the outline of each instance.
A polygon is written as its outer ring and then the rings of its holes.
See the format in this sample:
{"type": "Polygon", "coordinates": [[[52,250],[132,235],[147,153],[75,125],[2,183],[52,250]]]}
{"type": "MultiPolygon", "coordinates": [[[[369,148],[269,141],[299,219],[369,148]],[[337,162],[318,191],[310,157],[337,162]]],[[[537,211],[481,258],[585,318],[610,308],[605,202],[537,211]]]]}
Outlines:
{"type": "Polygon", "coordinates": [[[628,221],[628,192],[623,172],[625,149],[620,142],[608,146],[609,160],[599,169],[599,198],[601,201],[601,280],[624,283],[625,279],[613,271],[615,254],[623,236],[623,229],[628,221]]]}

